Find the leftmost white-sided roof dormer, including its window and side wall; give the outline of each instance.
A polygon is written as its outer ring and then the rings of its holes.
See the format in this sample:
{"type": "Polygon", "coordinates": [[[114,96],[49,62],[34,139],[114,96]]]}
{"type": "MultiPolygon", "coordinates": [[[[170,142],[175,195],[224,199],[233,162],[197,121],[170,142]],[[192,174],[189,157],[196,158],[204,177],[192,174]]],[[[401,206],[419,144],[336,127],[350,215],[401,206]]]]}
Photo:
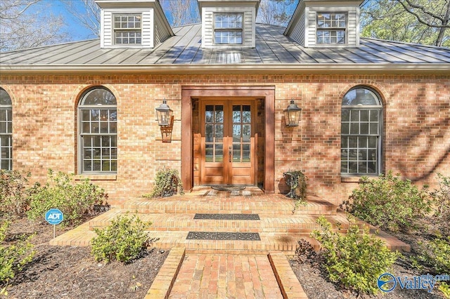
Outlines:
{"type": "Polygon", "coordinates": [[[101,48],[153,48],[174,35],[159,0],[96,0],[101,48]]]}

